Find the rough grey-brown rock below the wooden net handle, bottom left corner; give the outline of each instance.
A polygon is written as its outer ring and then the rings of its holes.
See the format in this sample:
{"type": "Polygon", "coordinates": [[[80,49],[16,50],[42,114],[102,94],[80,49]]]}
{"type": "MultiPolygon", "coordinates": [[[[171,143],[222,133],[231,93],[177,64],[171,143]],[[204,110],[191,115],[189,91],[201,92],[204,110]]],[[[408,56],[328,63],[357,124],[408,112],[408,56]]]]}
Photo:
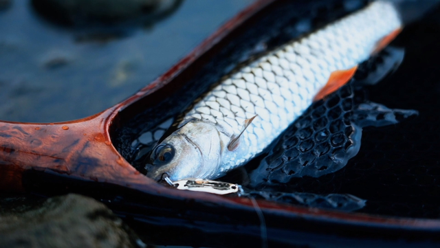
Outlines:
{"type": "Polygon", "coordinates": [[[120,218],[94,199],[68,194],[33,205],[0,202],[0,247],[139,247],[120,218]]]}

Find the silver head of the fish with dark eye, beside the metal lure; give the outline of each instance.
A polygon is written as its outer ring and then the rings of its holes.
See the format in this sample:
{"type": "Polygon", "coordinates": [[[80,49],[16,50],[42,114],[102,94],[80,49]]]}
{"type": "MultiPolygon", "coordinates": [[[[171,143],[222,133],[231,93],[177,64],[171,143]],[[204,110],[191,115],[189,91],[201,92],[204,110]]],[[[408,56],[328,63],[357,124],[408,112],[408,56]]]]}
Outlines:
{"type": "Polygon", "coordinates": [[[221,139],[213,124],[188,122],[153,148],[147,176],[160,181],[211,179],[221,161],[221,139]]]}

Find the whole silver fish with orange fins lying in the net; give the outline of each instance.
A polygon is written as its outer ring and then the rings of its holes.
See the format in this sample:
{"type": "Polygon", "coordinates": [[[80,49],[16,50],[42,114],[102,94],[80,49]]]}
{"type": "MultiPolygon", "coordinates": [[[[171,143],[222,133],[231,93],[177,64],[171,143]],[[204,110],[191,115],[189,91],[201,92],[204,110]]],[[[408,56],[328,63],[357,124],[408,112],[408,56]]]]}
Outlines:
{"type": "Polygon", "coordinates": [[[281,45],[225,75],[152,150],[147,176],[217,179],[271,144],[313,103],[344,86],[358,65],[401,32],[389,1],[281,45]]]}

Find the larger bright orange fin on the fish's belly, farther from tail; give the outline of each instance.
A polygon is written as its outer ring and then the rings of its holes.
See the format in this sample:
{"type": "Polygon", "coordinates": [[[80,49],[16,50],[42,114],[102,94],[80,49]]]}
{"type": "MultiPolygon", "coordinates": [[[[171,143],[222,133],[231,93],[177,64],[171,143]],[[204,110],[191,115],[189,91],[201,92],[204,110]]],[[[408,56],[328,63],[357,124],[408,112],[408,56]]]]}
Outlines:
{"type": "Polygon", "coordinates": [[[344,86],[344,84],[347,84],[347,82],[353,78],[357,69],[358,65],[348,70],[333,71],[325,87],[322,87],[318,94],[315,95],[314,102],[325,98],[326,95],[330,95],[344,86]]]}

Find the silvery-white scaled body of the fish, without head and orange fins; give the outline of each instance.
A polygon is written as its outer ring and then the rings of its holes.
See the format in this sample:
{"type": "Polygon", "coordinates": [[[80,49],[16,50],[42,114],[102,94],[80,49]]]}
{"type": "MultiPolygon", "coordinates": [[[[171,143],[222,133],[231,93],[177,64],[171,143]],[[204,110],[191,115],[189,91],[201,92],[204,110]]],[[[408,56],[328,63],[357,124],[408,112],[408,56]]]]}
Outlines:
{"type": "Polygon", "coordinates": [[[202,120],[232,136],[257,115],[241,138],[247,147],[223,170],[240,166],[267,147],[311,104],[331,72],[369,58],[378,41],[401,27],[391,3],[375,1],[340,21],[287,43],[221,79],[179,126],[202,120]]]}

